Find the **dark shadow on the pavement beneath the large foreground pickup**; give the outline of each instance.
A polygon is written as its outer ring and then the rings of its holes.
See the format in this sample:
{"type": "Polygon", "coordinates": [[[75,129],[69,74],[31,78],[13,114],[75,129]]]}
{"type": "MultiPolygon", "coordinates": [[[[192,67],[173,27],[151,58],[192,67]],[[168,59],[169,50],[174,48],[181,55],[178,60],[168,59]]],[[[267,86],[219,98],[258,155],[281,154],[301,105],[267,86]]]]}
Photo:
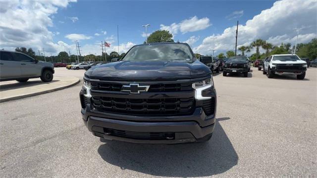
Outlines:
{"type": "Polygon", "coordinates": [[[125,170],[162,177],[203,177],[228,171],[238,163],[238,155],[219,121],[206,143],[175,145],[133,144],[107,141],[98,149],[109,164],[125,170]]]}

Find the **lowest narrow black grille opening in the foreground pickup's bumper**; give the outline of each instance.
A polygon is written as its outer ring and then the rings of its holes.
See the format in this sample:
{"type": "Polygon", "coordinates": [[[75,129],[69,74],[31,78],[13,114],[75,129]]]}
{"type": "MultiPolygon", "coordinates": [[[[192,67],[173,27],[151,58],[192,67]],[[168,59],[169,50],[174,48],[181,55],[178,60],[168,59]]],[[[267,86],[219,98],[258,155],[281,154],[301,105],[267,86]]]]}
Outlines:
{"type": "Polygon", "coordinates": [[[106,129],[105,132],[113,136],[120,136],[133,139],[174,139],[175,133],[163,133],[163,132],[131,132],[122,131],[116,129],[106,129]]]}

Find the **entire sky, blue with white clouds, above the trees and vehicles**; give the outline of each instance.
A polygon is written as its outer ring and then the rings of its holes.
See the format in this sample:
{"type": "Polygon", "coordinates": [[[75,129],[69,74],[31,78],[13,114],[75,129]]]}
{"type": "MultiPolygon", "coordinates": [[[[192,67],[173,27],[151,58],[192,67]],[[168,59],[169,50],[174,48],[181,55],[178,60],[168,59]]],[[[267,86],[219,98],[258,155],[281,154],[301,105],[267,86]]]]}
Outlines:
{"type": "MultiPolygon", "coordinates": [[[[194,52],[215,54],[233,50],[239,20],[238,47],[263,39],[273,45],[295,45],[296,27],[304,27],[299,43],[317,34],[316,0],[4,0],[0,1],[0,48],[32,47],[56,55],[60,51],[100,54],[119,52],[145,41],[148,32],[168,30],[174,40],[186,42],[194,52]],[[300,8],[299,8],[300,7],[300,8]]],[[[263,49],[261,49],[263,50],[263,49]]],[[[251,54],[251,51],[248,54],[251,54]]]]}

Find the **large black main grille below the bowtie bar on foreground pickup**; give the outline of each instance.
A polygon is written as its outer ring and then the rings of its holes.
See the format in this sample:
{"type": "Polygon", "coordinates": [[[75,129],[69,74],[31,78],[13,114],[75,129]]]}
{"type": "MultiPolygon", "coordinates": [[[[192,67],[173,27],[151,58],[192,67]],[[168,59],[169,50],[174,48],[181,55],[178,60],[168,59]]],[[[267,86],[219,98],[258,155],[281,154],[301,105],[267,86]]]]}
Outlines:
{"type": "Polygon", "coordinates": [[[195,99],[189,98],[118,98],[93,96],[98,111],[133,115],[184,115],[193,112],[195,99]]]}

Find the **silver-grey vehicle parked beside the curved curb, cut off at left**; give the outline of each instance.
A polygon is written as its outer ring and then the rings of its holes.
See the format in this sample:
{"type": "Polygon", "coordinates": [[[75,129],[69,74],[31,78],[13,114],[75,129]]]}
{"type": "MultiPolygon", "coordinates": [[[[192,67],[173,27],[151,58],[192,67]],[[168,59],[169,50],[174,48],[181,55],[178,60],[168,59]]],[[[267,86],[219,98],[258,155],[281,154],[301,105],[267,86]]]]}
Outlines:
{"type": "Polygon", "coordinates": [[[21,52],[0,50],[0,81],[26,82],[40,77],[43,82],[53,80],[52,63],[38,61],[21,52]]]}

